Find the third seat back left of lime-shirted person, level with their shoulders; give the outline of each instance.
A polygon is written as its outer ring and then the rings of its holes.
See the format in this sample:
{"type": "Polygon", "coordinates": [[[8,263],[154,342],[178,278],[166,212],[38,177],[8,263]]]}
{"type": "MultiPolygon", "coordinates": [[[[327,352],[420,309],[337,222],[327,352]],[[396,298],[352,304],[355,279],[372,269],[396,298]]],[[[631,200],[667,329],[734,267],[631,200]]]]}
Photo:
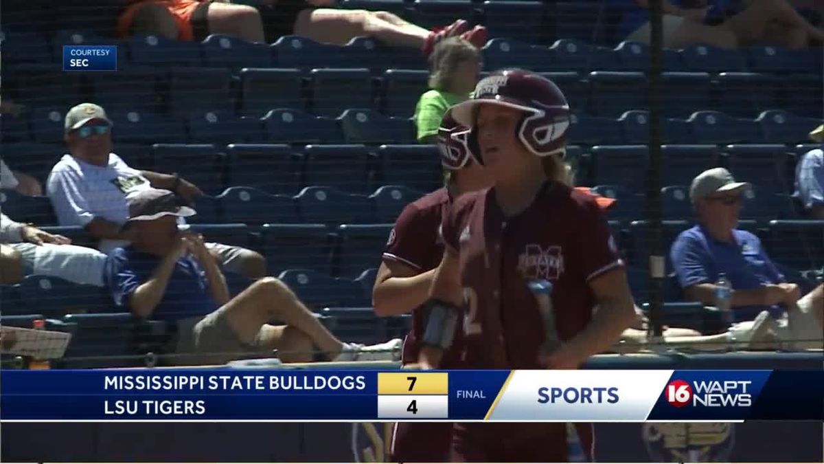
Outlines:
{"type": "Polygon", "coordinates": [[[298,69],[242,69],[241,114],[262,116],[275,108],[301,108],[298,69]]]}

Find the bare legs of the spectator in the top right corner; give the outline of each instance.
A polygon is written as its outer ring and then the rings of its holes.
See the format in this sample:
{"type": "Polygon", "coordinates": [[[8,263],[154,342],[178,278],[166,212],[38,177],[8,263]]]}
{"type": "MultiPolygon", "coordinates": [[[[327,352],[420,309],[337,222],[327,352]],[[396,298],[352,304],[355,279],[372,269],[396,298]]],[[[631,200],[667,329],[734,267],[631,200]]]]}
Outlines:
{"type": "Polygon", "coordinates": [[[769,36],[770,23],[774,21],[786,26],[788,36],[795,37],[796,42],[803,41],[804,45],[807,44],[806,38],[798,40],[797,31],[803,31],[807,38],[824,41],[824,31],[812,26],[786,0],[749,2],[742,12],[724,21],[723,27],[733,31],[742,46],[747,46],[758,40],[765,40],[769,36]]]}

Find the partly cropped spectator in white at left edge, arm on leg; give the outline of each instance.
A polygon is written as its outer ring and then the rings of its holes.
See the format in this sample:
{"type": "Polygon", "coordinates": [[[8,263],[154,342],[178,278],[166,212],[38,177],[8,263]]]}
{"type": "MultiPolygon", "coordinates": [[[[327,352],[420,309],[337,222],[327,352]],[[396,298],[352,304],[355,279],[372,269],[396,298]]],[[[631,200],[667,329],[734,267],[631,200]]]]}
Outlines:
{"type": "Polygon", "coordinates": [[[0,213],[0,283],[18,283],[35,274],[102,286],[105,254],[71,243],[63,235],[49,234],[0,213]]]}

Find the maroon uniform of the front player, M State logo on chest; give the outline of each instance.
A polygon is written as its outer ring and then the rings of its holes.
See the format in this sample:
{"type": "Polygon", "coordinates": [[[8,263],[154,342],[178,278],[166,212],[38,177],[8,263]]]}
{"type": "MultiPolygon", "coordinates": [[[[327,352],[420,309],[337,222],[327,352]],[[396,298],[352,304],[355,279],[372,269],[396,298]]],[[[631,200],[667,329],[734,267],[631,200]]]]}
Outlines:
{"type": "MultiPolygon", "coordinates": [[[[507,217],[494,195],[489,189],[462,196],[442,222],[447,248],[460,255],[467,296],[462,367],[541,369],[544,324],[528,283],[554,284],[555,324],[568,340],[592,317],[588,283],[623,263],[594,196],[546,182],[531,206],[507,217]]],[[[591,428],[579,427],[578,435],[589,451],[591,428]]],[[[566,459],[564,424],[458,424],[456,438],[457,449],[494,446],[498,451],[486,454],[492,460],[502,449],[526,452],[531,443],[543,448],[544,461],[566,459]]]]}

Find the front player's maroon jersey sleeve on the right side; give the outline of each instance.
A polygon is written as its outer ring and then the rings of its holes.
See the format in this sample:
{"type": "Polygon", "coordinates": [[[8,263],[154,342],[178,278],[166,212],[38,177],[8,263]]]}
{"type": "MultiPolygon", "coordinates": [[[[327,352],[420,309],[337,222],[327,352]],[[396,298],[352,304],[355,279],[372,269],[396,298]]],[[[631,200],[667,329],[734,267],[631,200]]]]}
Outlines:
{"type": "Polygon", "coordinates": [[[624,266],[618,254],[616,240],[606,224],[606,215],[593,199],[586,199],[581,206],[582,215],[578,230],[578,253],[583,263],[587,282],[624,266]]]}

